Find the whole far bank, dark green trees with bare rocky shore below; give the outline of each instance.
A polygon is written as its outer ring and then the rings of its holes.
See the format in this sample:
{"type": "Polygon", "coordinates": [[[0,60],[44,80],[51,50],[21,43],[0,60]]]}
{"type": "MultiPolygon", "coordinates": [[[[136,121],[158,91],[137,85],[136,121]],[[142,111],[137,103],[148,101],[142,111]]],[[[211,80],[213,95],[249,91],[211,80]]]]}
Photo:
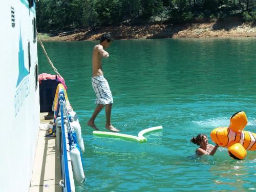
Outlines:
{"type": "Polygon", "coordinates": [[[256,36],[255,0],[40,0],[43,40],[256,36]]]}

